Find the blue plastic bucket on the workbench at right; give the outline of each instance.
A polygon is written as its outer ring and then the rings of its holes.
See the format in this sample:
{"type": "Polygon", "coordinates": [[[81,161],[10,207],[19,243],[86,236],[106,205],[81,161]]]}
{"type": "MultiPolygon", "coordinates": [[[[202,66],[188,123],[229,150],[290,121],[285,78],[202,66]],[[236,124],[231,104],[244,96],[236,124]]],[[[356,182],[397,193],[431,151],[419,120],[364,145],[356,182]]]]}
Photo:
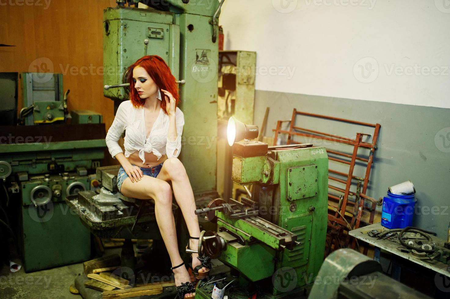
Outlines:
{"type": "Polygon", "coordinates": [[[412,226],[416,201],[414,194],[397,195],[387,191],[383,198],[381,225],[389,229],[412,226]]]}

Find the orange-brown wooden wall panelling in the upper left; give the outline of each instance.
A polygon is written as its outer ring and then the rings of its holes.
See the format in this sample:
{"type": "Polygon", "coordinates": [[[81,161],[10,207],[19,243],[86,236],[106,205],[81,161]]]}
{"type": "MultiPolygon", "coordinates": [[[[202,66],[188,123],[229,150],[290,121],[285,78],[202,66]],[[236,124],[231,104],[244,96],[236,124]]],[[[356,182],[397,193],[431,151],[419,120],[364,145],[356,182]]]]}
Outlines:
{"type": "MultiPolygon", "coordinates": [[[[103,97],[103,9],[111,6],[115,0],[0,0],[0,44],[15,45],[0,47],[0,72],[37,71],[48,62],[40,69],[63,74],[69,111],[100,112],[108,130],[114,105],[103,97]]],[[[107,150],[105,157],[117,164],[107,150]]]]}

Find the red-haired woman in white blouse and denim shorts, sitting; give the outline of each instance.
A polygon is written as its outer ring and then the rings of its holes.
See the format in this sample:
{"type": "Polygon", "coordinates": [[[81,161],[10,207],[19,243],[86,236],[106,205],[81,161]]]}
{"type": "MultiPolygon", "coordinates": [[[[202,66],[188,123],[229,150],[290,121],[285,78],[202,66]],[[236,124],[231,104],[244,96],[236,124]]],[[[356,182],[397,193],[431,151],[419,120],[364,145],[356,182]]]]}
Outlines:
{"type": "MultiPolygon", "coordinates": [[[[127,70],[130,100],[122,102],[108,130],[106,144],[111,156],[121,164],[117,175],[119,191],[128,197],[153,198],[162,239],[169,253],[179,297],[193,297],[194,287],[178,251],[172,214],[172,182],[175,199],[186,221],[189,248],[197,248],[200,229],[192,187],[183,164],[177,159],[181,149],[183,112],[175,77],[157,55],[144,56],[127,70]],[[163,98],[161,97],[163,95],[163,98]],[[117,143],[125,130],[125,155],[117,143]]],[[[196,276],[206,276],[209,260],[192,254],[196,276]]]]}

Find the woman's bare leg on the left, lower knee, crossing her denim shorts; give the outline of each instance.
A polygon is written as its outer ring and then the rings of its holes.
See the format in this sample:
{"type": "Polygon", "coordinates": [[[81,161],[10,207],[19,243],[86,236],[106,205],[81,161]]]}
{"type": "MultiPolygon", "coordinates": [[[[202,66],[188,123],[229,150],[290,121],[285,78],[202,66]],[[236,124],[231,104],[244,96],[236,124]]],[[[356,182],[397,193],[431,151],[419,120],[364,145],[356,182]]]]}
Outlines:
{"type": "MultiPolygon", "coordinates": [[[[161,180],[148,175],[144,175],[140,181],[132,183],[130,178],[126,178],[121,186],[121,193],[125,196],[146,200],[153,198],[155,201],[155,215],[162,240],[169,253],[172,267],[183,263],[178,251],[176,239],[175,219],[172,213],[172,190],[170,185],[161,180]]],[[[175,286],[191,281],[189,273],[185,267],[173,270],[175,276],[175,286]]],[[[193,295],[191,293],[187,296],[193,295]]]]}

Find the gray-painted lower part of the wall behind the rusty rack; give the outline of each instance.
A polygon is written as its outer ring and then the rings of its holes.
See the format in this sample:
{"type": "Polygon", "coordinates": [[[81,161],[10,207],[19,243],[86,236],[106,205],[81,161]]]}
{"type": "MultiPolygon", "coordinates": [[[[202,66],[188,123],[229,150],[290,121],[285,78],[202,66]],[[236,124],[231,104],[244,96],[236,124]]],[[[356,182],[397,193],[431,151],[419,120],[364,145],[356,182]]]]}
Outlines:
{"type": "MultiPolygon", "coordinates": [[[[277,120],[291,119],[294,107],[303,112],[381,124],[367,195],[378,199],[386,195],[388,187],[411,180],[417,199],[413,225],[446,239],[450,221],[450,148],[446,148],[450,145],[450,109],[257,90],[256,125],[261,126],[266,107],[270,107],[266,137],[273,137],[277,120]]],[[[373,132],[370,127],[308,116],[297,116],[296,125],[349,138],[354,138],[356,132],[373,132]]],[[[282,142],[285,140],[283,137],[282,142]]],[[[351,146],[324,144],[316,139],[296,140],[352,151],[351,146]]],[[[359,153],[367,156],[368,151],[359,153]]],[[[330,168],[348,172],[348,167],[332,161],[330,168]]],[[[363,168],[356,167],[354,174],[364,177],[363,168]]],[[[335,182],[333,185],[343,187],[335,182]]]]}

